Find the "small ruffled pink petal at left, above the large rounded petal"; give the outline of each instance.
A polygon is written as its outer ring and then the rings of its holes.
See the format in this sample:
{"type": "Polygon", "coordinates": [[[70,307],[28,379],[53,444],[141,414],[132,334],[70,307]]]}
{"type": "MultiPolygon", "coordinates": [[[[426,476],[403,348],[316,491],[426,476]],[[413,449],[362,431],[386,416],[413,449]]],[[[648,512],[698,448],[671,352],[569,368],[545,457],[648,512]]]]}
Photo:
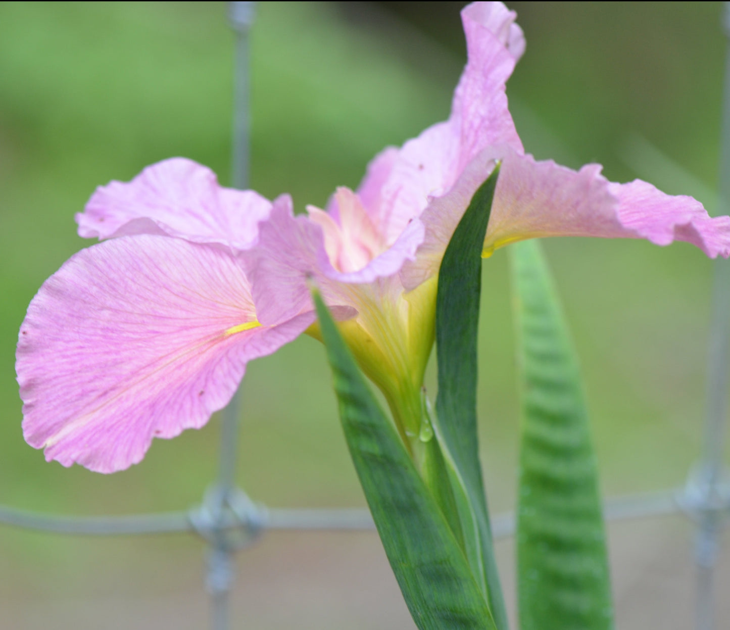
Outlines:
{"type": "Polygon", "coordinates": [[[172,158],[147,166],[129,183],[100,186],[76,221],[86,238],[168,234],[245,250],[270,210],[258,193],[222,188],[210,169],[172,158]]]}

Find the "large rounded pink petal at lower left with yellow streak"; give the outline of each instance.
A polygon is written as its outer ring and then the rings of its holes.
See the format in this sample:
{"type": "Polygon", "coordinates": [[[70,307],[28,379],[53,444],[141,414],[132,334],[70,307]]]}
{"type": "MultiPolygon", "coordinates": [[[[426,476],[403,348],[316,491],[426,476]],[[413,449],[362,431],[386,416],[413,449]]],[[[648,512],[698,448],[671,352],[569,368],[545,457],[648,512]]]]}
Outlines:
{"type": "Polygon", "coordinates": [[[94,245],[46,281],[20,327],[23,433],[48,461],[125,469],[153,437],[203,426],[247,361],[313,319],[244,330],[249,283],[217,247],[150,235],[94,245]]]}

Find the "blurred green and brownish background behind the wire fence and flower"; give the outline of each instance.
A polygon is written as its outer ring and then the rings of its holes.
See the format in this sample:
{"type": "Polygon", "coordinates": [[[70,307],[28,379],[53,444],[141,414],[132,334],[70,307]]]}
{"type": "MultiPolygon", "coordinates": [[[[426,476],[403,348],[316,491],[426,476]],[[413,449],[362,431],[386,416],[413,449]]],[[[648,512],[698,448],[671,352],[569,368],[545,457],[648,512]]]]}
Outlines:
{"type": "MultiPolygon", "coordinates": [[[[322,206],[335,186],[354,188],[385,145],[446,118],[464,64],[461,6],[258,4],[252,187],[292,193],[298,210],[322,206]]],[[[526,150],[572,167],[597,161],[611,180],[642,177],[713,210],[721,4],[509,6],[528,42],[507,90],[526,150]]],[[[215,475],[217,418],[156,440],[116,475],[46,464],[20,432],[14,353],[35,291],[91,244],[73,215],[97,185],[173,155],[228,183],[232,53],[224,4],[0,4],[0,503],[175,510],[196,504],[215,475]]],[[[680,485],[699,453],[710,261],[685,244],[545,245],[605,493],[680,485]]],[[[484,264],[480,335],[481,449],[498,512],[513,504],[518,419],[504,251],[484,264]]],[[[239,480],[254,499],[364,504],[317,342],[251,364],[242,415],[239,480]]],[[[622,523],[610,535],[619,626],[689,627],[688,523],[622,523]]],[[[499,554],[512,593],[511,544],[499,554]]],[[[204,627],[202,575],[201,545],[187,537],[66,539],[0,526],[0,628],[204,627]]],[[[240,626],[413,627],[373,534],[271,534],[241,554],[239,577],[240,626]]]]}

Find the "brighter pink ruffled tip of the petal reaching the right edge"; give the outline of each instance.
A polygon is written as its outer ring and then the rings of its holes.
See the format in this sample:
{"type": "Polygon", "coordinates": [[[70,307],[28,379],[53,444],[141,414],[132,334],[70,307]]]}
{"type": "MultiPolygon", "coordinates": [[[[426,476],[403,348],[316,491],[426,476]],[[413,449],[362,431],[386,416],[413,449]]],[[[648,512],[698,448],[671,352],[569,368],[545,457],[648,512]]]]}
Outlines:
{"type": "Polygon", "coordinates": [[[656,245],[685,241],[710,258],[730,256],[730,217],[710,218],[696,199],[666,195],[641,180],[612,183],[609,190],[618,198],[618,219],[630,231],[627,236],[656,245]]]}

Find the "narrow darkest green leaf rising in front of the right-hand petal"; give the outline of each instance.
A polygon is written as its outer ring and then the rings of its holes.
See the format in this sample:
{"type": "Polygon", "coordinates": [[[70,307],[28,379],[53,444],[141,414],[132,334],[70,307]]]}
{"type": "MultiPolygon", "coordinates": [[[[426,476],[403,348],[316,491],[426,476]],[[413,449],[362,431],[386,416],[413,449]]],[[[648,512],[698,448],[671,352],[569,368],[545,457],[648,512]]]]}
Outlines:
{"type": "Polygon", "coordinates": [[[461,218],[439,269],[436,347],[439,393],[434,428],[461,517],[466,555],[488,598],[499,630],[507,611],[494,561],[477,442],[477,325],[482,250],[499,166],[480,186],[461,218]]]}

